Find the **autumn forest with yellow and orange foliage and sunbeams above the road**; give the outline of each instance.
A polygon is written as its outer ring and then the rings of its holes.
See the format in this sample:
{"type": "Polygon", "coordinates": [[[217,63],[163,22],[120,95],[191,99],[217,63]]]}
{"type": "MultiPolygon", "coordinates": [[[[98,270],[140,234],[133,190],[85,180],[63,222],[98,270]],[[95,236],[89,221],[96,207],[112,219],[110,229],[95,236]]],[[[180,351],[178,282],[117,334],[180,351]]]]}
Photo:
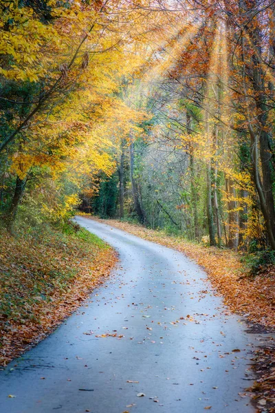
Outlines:
{"type": "Polygon", "coordinates": [[[60,220],[81,204],[211,245],[275,249],[273,1],[0,11],[8,228],[21,208],[60,220]]]}

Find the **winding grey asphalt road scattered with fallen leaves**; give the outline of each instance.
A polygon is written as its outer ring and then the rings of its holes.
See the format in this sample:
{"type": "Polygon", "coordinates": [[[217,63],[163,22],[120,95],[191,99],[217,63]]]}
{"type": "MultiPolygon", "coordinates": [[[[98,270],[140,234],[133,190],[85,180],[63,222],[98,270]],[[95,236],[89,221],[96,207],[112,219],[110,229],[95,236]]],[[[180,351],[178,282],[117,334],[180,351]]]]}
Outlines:
{"type": "Polygon", "coordinates": [[[76,220],[113,245],[120,264],[50,337],[0,372],[0,412],[254,412],[243,396],[252,383],[250,335],[201,268],[107,224],[76,220]]]}

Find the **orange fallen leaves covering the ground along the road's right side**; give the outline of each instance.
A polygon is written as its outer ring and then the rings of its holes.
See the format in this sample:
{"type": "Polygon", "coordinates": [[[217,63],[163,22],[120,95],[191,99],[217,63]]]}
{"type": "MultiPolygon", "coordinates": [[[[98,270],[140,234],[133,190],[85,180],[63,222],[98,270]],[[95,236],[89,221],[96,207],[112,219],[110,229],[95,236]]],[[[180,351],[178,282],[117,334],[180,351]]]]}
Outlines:
{"type": "MultiPolygon", "coordinates": [[[[251,277],[241,260],[242,256],[234,251],[188,242],[140,224],[92,219],[184,253],[203,267],[217,293],[223,296],[224,304],[245,318],[251,332],[274,333],[275,268],[271,267],[267,272],[251,277]]],[[[257,380],[252,390],[256,399],[261,399],[263,412],[275,412],[275,343],[272,336],[270,338],[254,354],[257,380]],[[266,400],[274,407],[265,410],[266,400]]]]}

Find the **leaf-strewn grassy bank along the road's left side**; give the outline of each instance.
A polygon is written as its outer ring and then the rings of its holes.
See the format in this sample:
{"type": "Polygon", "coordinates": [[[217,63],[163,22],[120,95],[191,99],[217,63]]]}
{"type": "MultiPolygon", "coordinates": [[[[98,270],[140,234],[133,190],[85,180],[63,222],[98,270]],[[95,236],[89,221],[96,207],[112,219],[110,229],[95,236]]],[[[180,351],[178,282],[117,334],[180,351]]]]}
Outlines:
{"type": "Polygon", "coordinates": [[[0,364],[76,310],[116,262],[113,249],[74,224],[0,234],[0,364]]]}

